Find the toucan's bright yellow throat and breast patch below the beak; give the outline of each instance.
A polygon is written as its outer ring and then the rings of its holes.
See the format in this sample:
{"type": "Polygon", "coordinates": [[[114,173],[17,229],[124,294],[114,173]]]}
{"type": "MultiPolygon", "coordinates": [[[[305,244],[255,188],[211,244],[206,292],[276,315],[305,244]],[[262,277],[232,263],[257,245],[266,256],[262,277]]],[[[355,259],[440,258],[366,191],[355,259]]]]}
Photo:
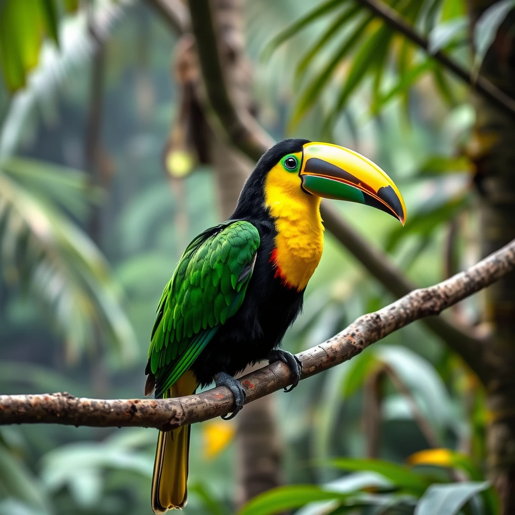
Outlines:
{"type": "Polygon", "coordinates": [[[280,164],[268,172],[265,204],[277,230],[270,262],[277,267],[276,277],[299,291],[306,287],[322,256],[320,200],[304,193],[300,177],[288,174],[280,164]]]}

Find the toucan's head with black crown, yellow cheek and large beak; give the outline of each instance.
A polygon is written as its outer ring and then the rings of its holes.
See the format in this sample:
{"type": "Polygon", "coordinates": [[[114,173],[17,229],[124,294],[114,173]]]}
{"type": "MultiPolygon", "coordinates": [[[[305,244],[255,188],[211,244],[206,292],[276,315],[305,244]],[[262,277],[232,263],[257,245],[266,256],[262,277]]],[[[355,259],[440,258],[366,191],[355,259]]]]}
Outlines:
{"type": "Polygon", "coordinates": [[[354,150],[300,139],[281,141],[261,157],[232,217],[263,218],[273,205],[282,205],[283,199],[297,205],[315,205],[318,199],[318,209],[321,197],[369,205],[403,225],[406,219],[397,186],[379,166],[354,150]]]}

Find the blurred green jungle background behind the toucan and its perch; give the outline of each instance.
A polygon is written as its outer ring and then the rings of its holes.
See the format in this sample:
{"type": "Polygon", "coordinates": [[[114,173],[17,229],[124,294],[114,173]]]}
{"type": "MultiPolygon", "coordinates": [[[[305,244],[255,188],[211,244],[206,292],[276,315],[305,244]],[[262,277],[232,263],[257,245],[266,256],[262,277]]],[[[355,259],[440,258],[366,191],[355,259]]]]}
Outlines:
{"type": "MultiPolygon", "coordinates": [[[[363,246],[326,232],[291,352],[515,236],[514,118],[435,59],[514,96],[515,4],[386,4],[429,52],[367,2],[210,4],[237,108],[275,140],[358,150],[406,200],[405,228],[331,203],[363,246]]],[[[252,169],[209,106],[198,15],[180,0],[0,1],[0,393],[142,396],[162,288],[252,169]]],[[[514,299],[508,276],[444,315],[461,329],[417,322],[231,422],[195,424],[185,512],[513,513],[514,299]]],[[[156,438],[0,427],[0,514],[150,513],[156,438]]]]}

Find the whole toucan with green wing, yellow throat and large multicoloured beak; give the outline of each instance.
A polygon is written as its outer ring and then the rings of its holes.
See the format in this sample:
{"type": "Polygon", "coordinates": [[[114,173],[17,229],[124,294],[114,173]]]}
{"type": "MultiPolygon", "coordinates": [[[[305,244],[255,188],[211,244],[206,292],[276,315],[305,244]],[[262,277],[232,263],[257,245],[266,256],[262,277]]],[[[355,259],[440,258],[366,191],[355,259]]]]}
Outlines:
{"type": "MultiPolygon", "coordinates": [[[[247,365],[282,361],[297,386],[301,363],[281,340],[302,309],[323,247],[321,197],[370,205],[404,225],[402,196],[386,173],[338,145],[288,139],[271,147],[245,182],[232,216],[187,246],[164,288],[151,333],[145,394],[194,393],[213,381],[234,396],[247,365]]],[[[154,513],[187,500],[190,426],[160,432],[153,470],[154,513]]]]}

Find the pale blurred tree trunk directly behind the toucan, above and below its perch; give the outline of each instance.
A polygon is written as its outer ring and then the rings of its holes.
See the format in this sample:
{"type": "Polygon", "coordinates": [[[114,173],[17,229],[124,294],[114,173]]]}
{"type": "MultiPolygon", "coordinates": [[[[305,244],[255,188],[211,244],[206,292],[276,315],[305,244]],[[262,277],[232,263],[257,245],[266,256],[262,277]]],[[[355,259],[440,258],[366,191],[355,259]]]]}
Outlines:
{"type": "MultiPolygon", "coordinates": [[[[215,0],[212,5],[228,87],[235,102],[252,110],[252,77],[244,55],[241,3],[239,0],[215,0]]],[[[215,131],[211,131],[210,136],[210,157],[216,172],[221,214],[222,218],[227,219],[236,206],[245,179],[252,171],[252,163],[215,131]]],[[[267,396],[253,402],[236,417],[237,509],[255,495],[281,484],[281,448],[274,420],[273,399],[273,396],[267,396]]]]}

